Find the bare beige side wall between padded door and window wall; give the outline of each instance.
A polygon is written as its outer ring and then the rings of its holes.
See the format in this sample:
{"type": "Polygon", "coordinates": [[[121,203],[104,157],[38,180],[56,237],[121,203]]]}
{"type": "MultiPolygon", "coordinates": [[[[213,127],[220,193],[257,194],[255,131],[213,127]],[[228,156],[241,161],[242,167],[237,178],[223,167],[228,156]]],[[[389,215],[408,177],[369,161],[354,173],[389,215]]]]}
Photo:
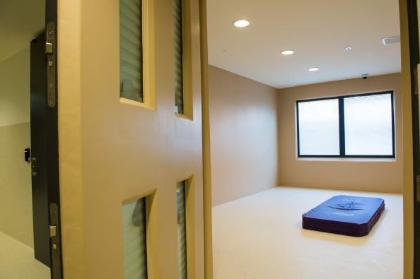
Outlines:
{"type": "Polygon", "coordinates": [[[209,66],[213,205],[277,186],[276,89],[209,66]]]}

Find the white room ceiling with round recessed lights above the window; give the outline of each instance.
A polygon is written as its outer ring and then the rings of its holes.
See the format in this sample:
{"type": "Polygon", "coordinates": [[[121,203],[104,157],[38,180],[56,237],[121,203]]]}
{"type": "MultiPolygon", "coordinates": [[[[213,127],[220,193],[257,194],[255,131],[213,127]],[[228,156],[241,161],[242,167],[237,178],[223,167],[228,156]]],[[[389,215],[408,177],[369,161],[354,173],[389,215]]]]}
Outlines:
{"type": "Polygon", "coordinates": [[[208,0],[207,12],[209,64],[275,88],[401,71],[400,44],[380,41],[399,35],[398,0],[208,0]]]}

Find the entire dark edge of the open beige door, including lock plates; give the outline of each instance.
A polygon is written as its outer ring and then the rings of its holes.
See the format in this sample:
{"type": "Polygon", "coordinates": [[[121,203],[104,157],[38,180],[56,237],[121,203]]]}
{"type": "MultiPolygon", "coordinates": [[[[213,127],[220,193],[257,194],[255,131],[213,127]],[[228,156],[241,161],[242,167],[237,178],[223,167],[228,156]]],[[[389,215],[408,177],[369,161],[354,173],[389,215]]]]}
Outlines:
{"type": "Polygon", "coordinates": [[[57,0],[46,1],[45,32],[30,44],[30,141],[35,259],[62,278],[57,114],[57,0]]]}

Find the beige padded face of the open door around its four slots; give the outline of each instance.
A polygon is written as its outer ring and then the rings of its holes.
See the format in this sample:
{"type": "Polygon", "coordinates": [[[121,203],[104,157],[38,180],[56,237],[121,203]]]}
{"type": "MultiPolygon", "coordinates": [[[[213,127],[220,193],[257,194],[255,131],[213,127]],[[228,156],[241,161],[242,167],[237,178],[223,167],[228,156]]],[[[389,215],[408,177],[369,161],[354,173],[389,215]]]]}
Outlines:
{"type": "MultiPolygon", "coordinates": [[[[204,278],[199,7],[191,0],[193,120],[175,117],[173,3],[148,1],[156,110],[119,100],[119,2],[59,0],[59,156],[65,278],[123,278],[122,203],[153,195],[150,278],[177,278],[176,182],[189,278],[204,278]],[[153,39],[154,37],[154,39],[153,39]]],[[[151,50],[151,49],[149,49],[151,50]]],[[[150,72],[149,72],[150,73],[150,72]]],[[[189,101],[191,102],[191,100],[189,101]]]]}

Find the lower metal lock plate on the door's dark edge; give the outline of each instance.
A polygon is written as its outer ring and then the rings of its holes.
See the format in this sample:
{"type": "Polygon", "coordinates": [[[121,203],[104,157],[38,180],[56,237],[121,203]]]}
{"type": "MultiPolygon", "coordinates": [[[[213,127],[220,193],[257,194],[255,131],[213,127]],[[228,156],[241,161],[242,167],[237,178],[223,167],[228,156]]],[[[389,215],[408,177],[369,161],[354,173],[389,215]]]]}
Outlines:
{"type": "Polygon", "coordinates": [[[62,251],[59,230],[59,207],[57,203],[49,205],[49,244],[51,245],[52,279],[62,279],[62,251]]]}

